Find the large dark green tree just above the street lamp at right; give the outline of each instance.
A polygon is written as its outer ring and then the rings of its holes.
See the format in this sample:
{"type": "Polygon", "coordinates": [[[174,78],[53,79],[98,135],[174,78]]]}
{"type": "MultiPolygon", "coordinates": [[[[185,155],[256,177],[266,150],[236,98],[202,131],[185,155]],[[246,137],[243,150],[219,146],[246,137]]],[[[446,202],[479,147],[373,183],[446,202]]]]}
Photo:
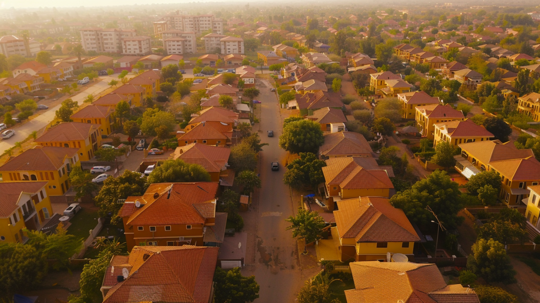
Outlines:
{"type": "Polygon", "coordinates": [[[390,203],[401,208],[409,219],[422,226],[427,226],[435,219],[426,210],[427,206],[431,207],[447,228],[457,226],[463,220],[463,217],[457,216],[461,210],[460,190],[445,171],[434,171],[408,190],[395,194],[390,203]]]}

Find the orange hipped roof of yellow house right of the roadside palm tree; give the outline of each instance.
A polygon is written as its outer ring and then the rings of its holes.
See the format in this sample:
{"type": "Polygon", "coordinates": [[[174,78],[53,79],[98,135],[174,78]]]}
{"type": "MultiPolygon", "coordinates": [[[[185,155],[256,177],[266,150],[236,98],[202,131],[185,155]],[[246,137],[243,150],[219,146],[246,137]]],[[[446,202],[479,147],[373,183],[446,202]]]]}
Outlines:
{"type": "Polygon", "coordinates": [[[388,198],[360,197],[338,201],[334,211],[340,238],[361,242],[420,241],[405,213],[394,208],[388,198]]]}

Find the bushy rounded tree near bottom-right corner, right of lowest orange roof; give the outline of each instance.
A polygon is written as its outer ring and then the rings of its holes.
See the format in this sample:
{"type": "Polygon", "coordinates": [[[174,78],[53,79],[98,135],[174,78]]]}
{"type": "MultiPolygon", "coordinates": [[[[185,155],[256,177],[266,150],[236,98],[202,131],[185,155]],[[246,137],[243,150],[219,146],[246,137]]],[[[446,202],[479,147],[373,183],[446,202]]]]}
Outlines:
{"type": "Polygon", "coordinates": [[[488,282],[514,283],[516,271],[510,264],[504,245],[493,239],[477,239],[473,253],[467,260],[467,268],[488,282]]]}

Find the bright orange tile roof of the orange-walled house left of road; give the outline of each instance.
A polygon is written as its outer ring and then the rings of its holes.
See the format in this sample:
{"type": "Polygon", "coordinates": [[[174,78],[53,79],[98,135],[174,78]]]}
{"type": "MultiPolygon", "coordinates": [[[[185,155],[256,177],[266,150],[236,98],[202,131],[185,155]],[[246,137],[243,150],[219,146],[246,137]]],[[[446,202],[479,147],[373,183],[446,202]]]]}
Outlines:
{"type": "Polygon", "coordinates": [[[217,190],[214,182],[154,183],[143,196],[127,197],[120,216],[130,225],[204,224],[215,216],[217,190]],[[135,207],[137,200],[143,206],[135,207]]]}

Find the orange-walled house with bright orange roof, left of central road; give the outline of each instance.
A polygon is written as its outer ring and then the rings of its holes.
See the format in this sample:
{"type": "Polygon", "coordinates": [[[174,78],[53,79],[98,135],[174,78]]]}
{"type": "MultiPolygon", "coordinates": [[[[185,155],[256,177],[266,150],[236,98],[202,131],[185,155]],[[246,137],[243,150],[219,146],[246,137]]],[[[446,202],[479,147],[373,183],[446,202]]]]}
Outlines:
{"type": "Polygon", "coordinates": [[[215,182],[154,183],[142,196],[127,197],[118,213],[124,223],[127,250],[141,243],[203,246],[209,242],[205,237],[210,228],[222,238],[227,219],[225,216],[225,221],[219,222],[222,226],[216,226],[218,186],[215,182]]]}

